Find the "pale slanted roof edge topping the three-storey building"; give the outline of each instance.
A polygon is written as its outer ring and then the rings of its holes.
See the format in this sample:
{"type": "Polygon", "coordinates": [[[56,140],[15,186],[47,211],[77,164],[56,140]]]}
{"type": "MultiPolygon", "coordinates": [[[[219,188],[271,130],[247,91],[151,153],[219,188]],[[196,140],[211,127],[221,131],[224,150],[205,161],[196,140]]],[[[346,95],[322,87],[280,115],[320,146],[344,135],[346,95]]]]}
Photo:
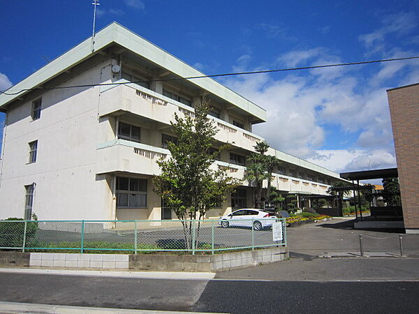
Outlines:
{"type": "MultiPolygon", "coordinates": [[[[127,50],[131,50],[135,54],[138,54],[145,59],[166,68],[180,77],[195,77],[204,75],[200,71],[196,70],[196,68],[193,68],[184,63],[184,61],[177,59],[172,54],[166,52],[153,43],[150,43],[145,38],[138,36],[125,27],[122,27],[122,25],[117,22],[112,22],[112,24],[109,24],[107,27],[96,33],[94,52],[91,51],[91,37],[89,37],[79,45],[71,48],[71,50],[68,50],[50,63],[47,63],[47,65],[29,75],[29,77],[25,78],[21,82],[18,82],[13,87],[10,87],[8,91],[13,92],[20,91],[21,89],[34,89],[36,87],[41,87],[41,85],[48,80],[57,77],[57,75],[64,73],[76,64],[89,59],[89,57],[97,54],[101,49],[111,45],[112,43],[121,45],[127,50]]],[[[196,84],[198,87],[219,96],[228,103],[232,103],[240,109],[249,112],[249,114],[258,119],[258,122],[266,121],[266,111],[262,107],[252,103],[250,100],[240,96],[212,78],[203,77],[191,80],[191,82],[196,84]]],[[[22,97],[27,92],[28,91],[21,91],[16,95],[0,94],[0,110],[4,111],[5,106],[8,105],[8,103],[22,97]]]]}

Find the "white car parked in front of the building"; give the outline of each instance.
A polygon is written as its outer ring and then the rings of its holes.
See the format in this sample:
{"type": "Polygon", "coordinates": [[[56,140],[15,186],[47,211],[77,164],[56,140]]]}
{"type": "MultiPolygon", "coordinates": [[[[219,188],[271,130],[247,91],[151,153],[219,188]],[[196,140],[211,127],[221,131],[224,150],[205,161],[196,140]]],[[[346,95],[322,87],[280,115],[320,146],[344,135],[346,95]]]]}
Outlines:
{"type": "Polygon", "coordinates": [[[223,228],[231,226],[251,227],[253,223],[254,230],[262,230],[266,227],[272,227],[277,216],[260,209],[244,208],[219,218],[219,225],[223,228]]]}

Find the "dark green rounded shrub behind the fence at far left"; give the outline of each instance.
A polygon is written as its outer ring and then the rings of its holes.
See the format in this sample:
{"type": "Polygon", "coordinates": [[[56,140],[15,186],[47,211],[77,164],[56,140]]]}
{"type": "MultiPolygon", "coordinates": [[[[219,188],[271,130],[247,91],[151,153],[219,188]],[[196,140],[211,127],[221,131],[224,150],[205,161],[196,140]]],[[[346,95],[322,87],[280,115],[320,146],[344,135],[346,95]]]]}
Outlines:
{"type": "MultiPolygon", "coordinates": [[[[0,220],[0,247],[22,247],[24,225],[24,219],[22,218],[11,217],[0,220]]],[[[31,243],[34,242],[36,230],[38,230],[38,223],[36,221],[27,223],[25,246],[31,246],[31,243]]]]}

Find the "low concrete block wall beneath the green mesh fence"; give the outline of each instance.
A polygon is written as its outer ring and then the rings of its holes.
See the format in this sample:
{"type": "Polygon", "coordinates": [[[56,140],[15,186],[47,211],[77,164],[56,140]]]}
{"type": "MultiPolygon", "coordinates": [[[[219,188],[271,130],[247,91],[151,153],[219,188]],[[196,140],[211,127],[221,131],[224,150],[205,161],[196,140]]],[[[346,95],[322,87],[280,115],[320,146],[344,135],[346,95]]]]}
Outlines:
{"type": "Polygon", "coordinates": [[[289,257],[288,248],[216,255],[78,254],[0,252],[0,267],[63,267],[76,269],[131,269],[136,271],[219,271],[279,262],[289,257]]]}

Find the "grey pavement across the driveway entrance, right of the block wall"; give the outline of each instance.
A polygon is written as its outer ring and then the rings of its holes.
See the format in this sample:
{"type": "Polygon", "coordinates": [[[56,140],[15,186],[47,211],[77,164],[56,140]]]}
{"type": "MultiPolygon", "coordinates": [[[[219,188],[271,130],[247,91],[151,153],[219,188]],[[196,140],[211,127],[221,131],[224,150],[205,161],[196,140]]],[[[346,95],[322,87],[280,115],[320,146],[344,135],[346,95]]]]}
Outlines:
{"type": "Polygon", "coordinates": [[[300,254],[278,263],[220,271],[216,279],[258,281],[419,281],[419,258],[318,258],[300,254]]]}

